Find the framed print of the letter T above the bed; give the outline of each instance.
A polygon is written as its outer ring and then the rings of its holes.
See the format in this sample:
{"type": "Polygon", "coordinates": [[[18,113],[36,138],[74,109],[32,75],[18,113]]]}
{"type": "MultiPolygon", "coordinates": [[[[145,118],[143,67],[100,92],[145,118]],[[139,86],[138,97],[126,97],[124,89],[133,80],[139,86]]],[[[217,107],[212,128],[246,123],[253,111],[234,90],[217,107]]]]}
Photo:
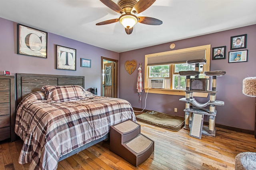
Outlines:
{"type": "Polygon", "coordinates": [[[76,49],[56,45],[56,69],[76,70],[76,49]]]}

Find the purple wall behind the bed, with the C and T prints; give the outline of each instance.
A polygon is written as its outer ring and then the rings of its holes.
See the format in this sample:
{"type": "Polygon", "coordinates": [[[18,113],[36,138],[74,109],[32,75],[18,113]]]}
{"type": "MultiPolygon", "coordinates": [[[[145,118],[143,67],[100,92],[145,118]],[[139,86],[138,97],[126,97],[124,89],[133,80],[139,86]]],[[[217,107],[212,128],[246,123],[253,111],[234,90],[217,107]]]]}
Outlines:
{"type": "MultiPolygon", "coordinates": [[[[119,60],[119,53],[48,33],[47,59],[17,54],[17,23],[0,18],[0,73],[85,76],[85,89],[97,87],[100,94],[101,56],[119,60]],[[76,49],[76,71],[56,69],[56,45],[76,49]],[[92,60],[91,68],[80,67],[80,58],[92,60]]],[[[42,30],[42,29],[41,29],[42,30]]]]}

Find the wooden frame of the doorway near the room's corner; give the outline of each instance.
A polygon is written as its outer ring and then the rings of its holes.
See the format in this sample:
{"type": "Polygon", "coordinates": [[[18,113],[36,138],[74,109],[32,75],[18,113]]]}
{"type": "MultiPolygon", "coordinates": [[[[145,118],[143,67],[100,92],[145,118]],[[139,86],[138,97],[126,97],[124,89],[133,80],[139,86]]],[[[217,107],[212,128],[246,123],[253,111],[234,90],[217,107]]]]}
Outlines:
{"type": "Polygon", "coordinates": [[[112,61],[115,62],[115,68],[114,68],[114,98],[118,98],[118,60],[115,59],[109,59],[106,57],[101,56],[101,66],[100,66],[100,96],[103,96],[103,60],[112,61]]]}

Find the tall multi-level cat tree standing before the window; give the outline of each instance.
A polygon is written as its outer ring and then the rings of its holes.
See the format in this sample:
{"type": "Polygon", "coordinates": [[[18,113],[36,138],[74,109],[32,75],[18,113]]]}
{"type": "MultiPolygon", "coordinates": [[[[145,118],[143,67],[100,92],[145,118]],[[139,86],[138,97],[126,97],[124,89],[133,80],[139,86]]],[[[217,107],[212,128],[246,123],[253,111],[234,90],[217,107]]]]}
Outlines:
{"type": "Polygon", "coordinates": [[[202,134],[213,136],[216,135],[215,117],[216,105],[223,106],[224,102],[216,100],[216,79],[217,76],[226,74],[223,70],[204,72],[205,76],[211,77],[212,89],[207,90],[207,78],[199,78],[199,64],[206,64],[206,59],[194,59],[186,61],[187,64],[195,65],[195,70],[180,71],[181,76],[186,76],[186,98],[181,98],[180,101],[186,102],[185,105],[185,127],[190,130],[190,136],[201,139],[202,134]],[[191,76],[195,76],[191,78],[191,76]],[[204,104],[197,102],[193,98],[193,92],[201,92],[210,94],[210,100],[204,104]],[[209,105],[209,109],[204,107],[209,105]],[[203,126],[204,115],[209,117],[209,126],[203,126]]]}

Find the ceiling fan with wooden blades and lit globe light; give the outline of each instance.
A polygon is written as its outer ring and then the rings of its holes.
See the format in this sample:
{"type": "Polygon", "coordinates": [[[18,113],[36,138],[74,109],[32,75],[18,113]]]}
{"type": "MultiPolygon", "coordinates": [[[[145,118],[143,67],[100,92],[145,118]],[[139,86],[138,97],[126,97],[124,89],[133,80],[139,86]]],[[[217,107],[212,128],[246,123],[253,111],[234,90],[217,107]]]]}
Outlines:
{"type": "Polygon", "coordinates": [[[137,22],[147,25],[161,25],[163,23],[161,20],[156,18],[136,16],[136,14],[139,14],[140,12],[143,12],[148,7],[150,7],[156,0],[119,0],[118,4],[114,3],[112,0],[100,1],[110,9],[121,14],[121,16],[116,19],[96,23],[96,25],[106,25],[119,21],[124,26],[125,32],[127,34],[131,34],[133,26],[137,22]]]}

